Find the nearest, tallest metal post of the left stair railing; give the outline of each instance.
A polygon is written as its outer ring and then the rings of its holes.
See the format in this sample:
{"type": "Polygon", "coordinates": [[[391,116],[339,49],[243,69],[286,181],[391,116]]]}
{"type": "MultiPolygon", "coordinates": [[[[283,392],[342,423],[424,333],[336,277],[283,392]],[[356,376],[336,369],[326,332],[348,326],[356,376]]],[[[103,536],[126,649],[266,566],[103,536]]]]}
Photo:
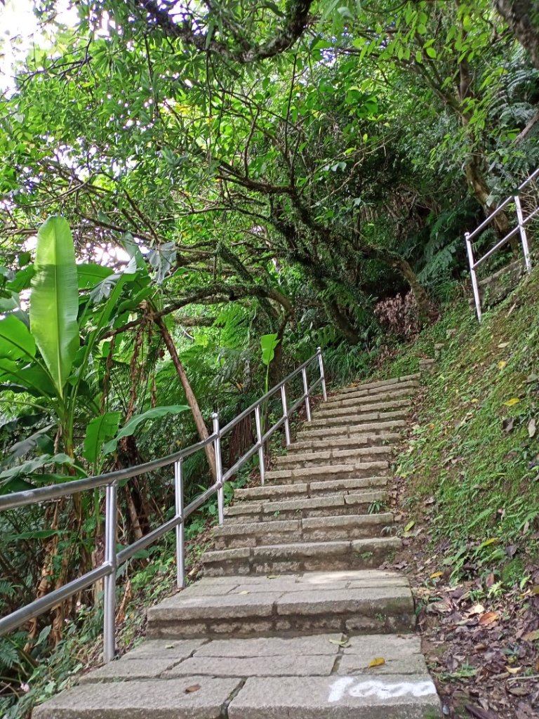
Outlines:
{"type": "Polygon", "coordinates": [[[107,663],[116,656],[116,482],[107,485],[105,491],[105,563],[111,567],[104,578],[103,592],[103,661],[107,663]]]}

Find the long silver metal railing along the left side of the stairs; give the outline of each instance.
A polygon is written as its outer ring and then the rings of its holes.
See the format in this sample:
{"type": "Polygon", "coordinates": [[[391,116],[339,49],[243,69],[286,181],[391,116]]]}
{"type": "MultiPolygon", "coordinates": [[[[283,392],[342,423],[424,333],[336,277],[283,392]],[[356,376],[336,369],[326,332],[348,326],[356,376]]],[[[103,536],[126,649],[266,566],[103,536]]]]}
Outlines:
{"type": "Polygon", "coordinates": [[[50,485],[47,487],[39,487],[33,490],[26,490],[24,492],[16,492],[10,495],[0,497],[0,511],[8,509],[16,509],[24,507],[25,505],[37,504],[45,501],[59,500],[64,497],[69,497],[80,492],[87,490],[95,490],[99,487],[105,487],[105,552],[103,562],[90,572],[86,572],[81,577],[68,582],[63,587],[59,587],[53,590],[45,597],[34,600],[34,602],[25,605],[0,619],[0,636],[10,631],[13,631],[17,627],[21,626],[24,622],[33,619],[47,610],[54,608],[55,606],[62,603],[64,600],[73,595],[78,594],[81,590],[85,590],[96,582],[103,580],[104,591],[103,591],[103,660],[111,661],[114,659],[116,653],[115,645],[115,618],[116,618],[116,572],[117,569],[127,562],[128,559],[134,557],[141,549],[145,549],[150,544],[153,544],[157,539],[160,539],[165,533],[175,530],[176,533],[176,580],[179,588],[185,586],[185,520],[200,508],[206,500],[211,498],[213,495],[217,495],[217,506],[218,506],[218,521],[222,524],[224,521],[224,482],[229,480],[230,477],[234,476],[239,468],[247,462],[254,454],[259,455],[259,469],[260,469],[260,480],[264,484],[264,444],[272,436],[272,434],[280,429],[281,426],[285,427],[285,442],[287,445],[290,444],[290,417],[298,407],[305,403],[305,412],[308,421],[310,421],[310,395],[313,390],[321,385],[323,398],[327,400],[326,393],[326,379],[324,376],[323,359],[321,348],[318,347],[316,354],[310,357],[303,365],[300,365],[296,370],[285,377],[282,382],[275,385],[269,392],[262,395],[254,404],[248,407],[246,410],[241,412],[236,418],[229,422],[226,426],[219,426],[218,414],[213,414],[213,432],[207,439],[193,444],[181,452],[175,452],[167,457],[160,459],[154,459],[152,462],[146,462],[145,464],[139,464],[136,467],[128,467],[125,470],[116,470],[116,472],[108,472],[98,477],[88,477],[83,480],[73,480],[72,482],[64,482],[60,485],[50,485]],[[310,365],[316,363],[320,376],[311,385],[308,383],[307,370],[310,365]],[[287,384],[294,377],[301,375],[303,378],[303,395],[295,401],[295,403],[287,406],[287,384]],[[273,426],[267,431],[263,431],[262,428],[262,405],[273,397],[277,392],[280,392],[282,402],[282,416],[275,422],[273,426]],[[254,413],[254,419],[257,430],[257,441],[245,452],[245,454],[238,459],[238,461],[229,468],[229,470],[223,470],[222,454],[221,454],[221,439],[234,429],[234,427],[244,420],[244,418],[254,413]],[[186,457],[190,457],[191,454],[198,452],[208,444],[213,444],[213,448],[216,456],[216,482],[211,485],[205,492],[195,498],[186,507],[183,502],[183,461],[186,457]],[[174,487],[175,487],[175,516],[165,523],[162,523],[157,528],[153,529],[141,539],[134,541],[133,544],[129,544],[124,549],[116,553],[116,538],[118,534],[117,526],[117,495],[118,495],[118,482],[121,480],[129,480],[131,477],[137,477],[139,475],[146,475],[149,472],[154,472],[162,467],[168,467],[171,464],[174,465],[174,487]]]}

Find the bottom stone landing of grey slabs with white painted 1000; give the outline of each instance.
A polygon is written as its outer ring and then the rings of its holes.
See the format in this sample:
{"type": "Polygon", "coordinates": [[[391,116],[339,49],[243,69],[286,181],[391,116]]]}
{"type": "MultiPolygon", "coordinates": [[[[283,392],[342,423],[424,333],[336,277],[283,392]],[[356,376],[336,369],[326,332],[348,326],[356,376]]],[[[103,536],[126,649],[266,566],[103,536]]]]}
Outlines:
{"type": "Polygon", "coordinates": [[[34,719],[440,719],[418,636],[149,639],[34,719]],[[384,664],[369,668],[383,656],[384,664]],[[194,690],[196,687],[196,690],[194,690]]]}

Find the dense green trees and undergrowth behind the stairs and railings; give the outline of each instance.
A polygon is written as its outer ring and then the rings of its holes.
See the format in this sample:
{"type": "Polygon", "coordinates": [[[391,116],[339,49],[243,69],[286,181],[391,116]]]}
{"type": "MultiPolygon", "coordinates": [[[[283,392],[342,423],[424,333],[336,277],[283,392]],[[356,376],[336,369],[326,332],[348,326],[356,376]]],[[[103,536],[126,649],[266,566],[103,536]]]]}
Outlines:
{"type": "MultiPolygon", "coordinates": [[[[464,231],[539,164],[528,0],[75,5],[63,24],[34,2],[52,40],[0,99],[2,492],[187,446],[318,345],[334,383],[367,374],[459,293],[464,231]]],[[[213,471],[210,450],[185,462],[189,498],[213,471]]],[[[170,485],[121,487],[119,542],[170,516],[170,485]]],[[[0,531],[10,611],[101,561],[103,498],[0,531]]],[[[1,645],[8,704],[65,617],[86,619],[65,605],[1,645]]]]}

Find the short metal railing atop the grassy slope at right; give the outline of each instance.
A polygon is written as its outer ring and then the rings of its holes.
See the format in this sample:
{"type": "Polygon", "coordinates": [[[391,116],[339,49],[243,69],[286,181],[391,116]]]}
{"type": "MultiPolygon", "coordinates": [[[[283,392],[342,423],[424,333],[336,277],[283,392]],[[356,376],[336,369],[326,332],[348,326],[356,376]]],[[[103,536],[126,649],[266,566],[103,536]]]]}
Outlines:
{"type": "Polygon", "coordinates": [[[507,242],[510,241],[512,237],[517,234],[517,232],[520,232],[520,242],[522,243],[522,252],[524,254],[524,261],[526,265],[526,270],[531,272],[532,269],[532,262],[530,258],[530,247],[528,246],[528,234],[526,233],[526,224],[533,219],[538,213],[539,213],[539,205],[535,206],[535,209],[530,212],[528,216],[524,216],[524,213],[522,212],[522,203],[520,202],[520,192],[535,178],[537,178],[539,175],[539,168],[535,170],[534,173],[530,175],[530,177],[525,180],[522,185],[520,185],[517,188],[517,194],[515,196],[507,197],[501,205],[497,207],[497,209],[494,210],[492,214],[490,214],[484,222],[482,222],[479,227],[476,227],[474,229],[474,232],[465,232],[464,233],[464,242],[466,242],[466,250],[468,252],[468,262],[470,265],[470,275],[471,275],[471,286],[474,290],[474,301],[475,301],[475,307],[476,307],[476,313],[477,313],[477,319],[479,322],[481,321],[482,317],[482,310],[481,310],[481,296],[479,294],[479,283],[477,282],[477,275],[476,275],[476,267],[479,267],[482,262],[487,260],[491,255],[494,255],[494,252],[497,252],[500,247],[503,247],[507,242]],[[491,249],[489,249],[488,252],[486,252],[483,257],[479,257],[479,260],[474,259],[474,248],[471,244],[474,237],[477,237],[478,234],[483,232],[484,229],[489,226],[489,224],[492,222],[494,217],[496,217],[502,210],[504,210],[510,203],[515,203],[515,211],[517,215],[517,226],[513,227],[513,229],[508,232],[503,239],[500,239],[497,244],[494,245],[491,249]]]}

